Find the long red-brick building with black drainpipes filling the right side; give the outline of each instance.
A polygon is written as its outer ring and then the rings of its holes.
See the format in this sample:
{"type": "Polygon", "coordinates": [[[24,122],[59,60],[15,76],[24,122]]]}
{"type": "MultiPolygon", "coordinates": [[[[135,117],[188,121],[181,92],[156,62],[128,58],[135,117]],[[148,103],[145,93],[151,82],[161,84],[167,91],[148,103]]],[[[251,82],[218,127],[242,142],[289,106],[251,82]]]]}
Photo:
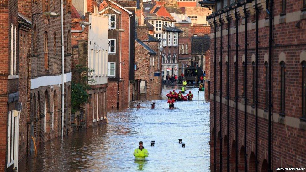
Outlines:
{"type": "Polygon", "coordinates": [[[214,10],[208,16],[212,170],[305,167],[306,4],[268,2],[200,2],[214,10]]]}

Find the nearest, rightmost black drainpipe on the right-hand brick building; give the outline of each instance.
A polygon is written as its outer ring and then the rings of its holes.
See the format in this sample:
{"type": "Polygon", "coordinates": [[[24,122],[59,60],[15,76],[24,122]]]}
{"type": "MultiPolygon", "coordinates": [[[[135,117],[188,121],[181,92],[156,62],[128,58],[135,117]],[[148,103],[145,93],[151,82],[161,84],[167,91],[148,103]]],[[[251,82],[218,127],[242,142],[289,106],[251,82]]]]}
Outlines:
{"type": "MultiPolygon", "coordinates": [[[[267,0],[266,3],[269,1],[267,0]]],[[[271,171],[271,115],[272,115],[272,20],[273,20],[273,0],[270,0],[270,10],[267,9],[269,13],[269,109],[268,109],[268,164],[269,171],[271,171]]]]}

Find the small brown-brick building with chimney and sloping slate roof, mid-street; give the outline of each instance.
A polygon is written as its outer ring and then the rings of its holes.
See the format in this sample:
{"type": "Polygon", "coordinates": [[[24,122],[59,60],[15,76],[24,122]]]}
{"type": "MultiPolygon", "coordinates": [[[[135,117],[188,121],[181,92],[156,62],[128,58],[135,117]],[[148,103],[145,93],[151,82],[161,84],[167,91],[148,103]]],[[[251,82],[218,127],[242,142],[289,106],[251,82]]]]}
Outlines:
{"type": "Polygon", "coordinates": [[[133,99],[139,99],[140,94],[150,97],[161,93],[159,43],[159,39],[148,34],[147,26],[136,27],[133,99]]]}

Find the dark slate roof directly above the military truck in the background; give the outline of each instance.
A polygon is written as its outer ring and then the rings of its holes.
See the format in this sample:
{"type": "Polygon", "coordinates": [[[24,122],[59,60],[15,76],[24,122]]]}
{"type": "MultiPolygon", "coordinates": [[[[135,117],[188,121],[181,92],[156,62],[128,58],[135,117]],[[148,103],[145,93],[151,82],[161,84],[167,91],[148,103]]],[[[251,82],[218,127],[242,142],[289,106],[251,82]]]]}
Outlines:
{"type": "Polygon", "coordinates": [[[210,48],[210,36],[193,36],[191,37],[191,54],[202,54],[210,48]]]}

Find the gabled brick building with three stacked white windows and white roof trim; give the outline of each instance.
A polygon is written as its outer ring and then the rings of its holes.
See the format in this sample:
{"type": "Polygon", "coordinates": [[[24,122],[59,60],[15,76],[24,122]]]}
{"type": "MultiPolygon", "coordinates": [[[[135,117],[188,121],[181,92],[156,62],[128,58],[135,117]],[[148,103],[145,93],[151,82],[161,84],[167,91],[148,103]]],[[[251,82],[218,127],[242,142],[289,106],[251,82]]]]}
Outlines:
{"type": "Polygon", "coordinates": [[[99,13],[108,22],[107,107],[124,107],[130,100],[130,81],[134,80],[134,34],[136,1],[112,1],[101,5],[99,13]]]}

